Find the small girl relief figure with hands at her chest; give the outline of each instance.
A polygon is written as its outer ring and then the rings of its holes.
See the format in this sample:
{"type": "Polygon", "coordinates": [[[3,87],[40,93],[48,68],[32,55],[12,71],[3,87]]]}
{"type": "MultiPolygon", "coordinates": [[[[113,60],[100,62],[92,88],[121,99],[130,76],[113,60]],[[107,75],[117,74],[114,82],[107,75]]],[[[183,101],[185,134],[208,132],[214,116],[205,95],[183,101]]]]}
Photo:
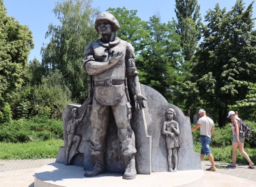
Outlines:
{"type": "Polygon", "coordinates": [[[180,142],[177,139],[177,136],[180,135],[179,124],[174,120],[177,116],[175,110],[173,108],[169,108],[165,114],[167,121],[164,122],[162,126],[162,134],[166,135],[166,145],[168,150],[168,171],[176,172],[177,171],[177,148],[180,148],[180,142]],[[172,167],[172,157],[173,165],[172,167]]]}

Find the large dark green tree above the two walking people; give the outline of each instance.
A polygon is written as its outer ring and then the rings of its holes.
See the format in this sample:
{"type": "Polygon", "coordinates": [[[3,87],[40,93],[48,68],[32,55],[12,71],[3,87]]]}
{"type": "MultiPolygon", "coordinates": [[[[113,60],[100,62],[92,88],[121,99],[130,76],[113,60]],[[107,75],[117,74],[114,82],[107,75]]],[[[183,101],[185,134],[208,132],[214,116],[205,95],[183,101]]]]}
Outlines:
{"type": "Polygon", "coordinates": [[[229,12],[216,4],[205,16],[208,28],[193,58],[191,80],[196,82],[201,106],[217,112],[219,126],[225,125],[228,105],[244,99],[248,92],[234,80],[253,82],[256,78],[252,13],[253,3],[245,9],[238,0],[229,12]]]}

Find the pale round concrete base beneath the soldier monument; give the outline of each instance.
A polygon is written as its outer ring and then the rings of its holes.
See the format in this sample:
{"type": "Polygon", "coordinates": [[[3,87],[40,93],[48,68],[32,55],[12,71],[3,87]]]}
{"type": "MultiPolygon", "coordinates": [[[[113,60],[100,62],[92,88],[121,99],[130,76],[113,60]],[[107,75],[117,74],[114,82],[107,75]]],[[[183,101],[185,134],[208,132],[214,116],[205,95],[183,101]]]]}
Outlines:
{"type": "Polygon", "coordinates": [[[96,177],[84,177],[83,167],[51,163],[35,171],[35,187],[104,186],[104,187],[156,187],[156,186],[204,186],[203,170],[157,172],[137,175],[134,180],[123,180],[121,173],[104,173],[96,177]]]}

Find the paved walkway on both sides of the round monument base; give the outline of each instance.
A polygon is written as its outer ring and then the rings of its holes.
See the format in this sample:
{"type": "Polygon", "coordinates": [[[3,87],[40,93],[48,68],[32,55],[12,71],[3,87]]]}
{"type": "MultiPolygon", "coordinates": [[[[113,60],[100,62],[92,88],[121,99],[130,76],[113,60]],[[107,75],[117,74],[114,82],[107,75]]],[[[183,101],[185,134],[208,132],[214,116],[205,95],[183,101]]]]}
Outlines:
{"type": "MultiPolygon", "coordinates": [[[[37,160],[0,160],[0,186],[33,187],[35,171],[44,165],[55,162],[55,158],[37,160]]],[[[210,167],[209,161],[202,162],[202,169],[210,167]]],[[[236,165],[227,168],[227,163],[216,162],[216,172],[205,171],[205,186],[256,186],[256,168],[236,165]]]]}

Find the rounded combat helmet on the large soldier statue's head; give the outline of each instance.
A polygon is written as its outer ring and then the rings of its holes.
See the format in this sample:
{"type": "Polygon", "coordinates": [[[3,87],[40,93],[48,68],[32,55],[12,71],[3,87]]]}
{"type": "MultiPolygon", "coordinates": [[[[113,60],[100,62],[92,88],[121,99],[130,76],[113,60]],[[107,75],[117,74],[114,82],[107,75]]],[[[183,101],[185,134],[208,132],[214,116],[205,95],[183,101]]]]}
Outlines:
{"type": "Polygon", "coordinates": [[[118,31],[120,29],[120,25],[119,25],[119,22],[117,21],[117,19],[115,18],[115,16],[113,16],[112,14],[110,14],[109,12],[103,12],[101,14],[99,14],[96,18],[96,21],[95,21],[95,25],[94,25],[94,28],[95,30],[99,33],[99,30],[98,30],[98,22],[102,21],[102,20],[107,20],[111,23],[112,25],[112,29],[113,31],[118,31]]]}

